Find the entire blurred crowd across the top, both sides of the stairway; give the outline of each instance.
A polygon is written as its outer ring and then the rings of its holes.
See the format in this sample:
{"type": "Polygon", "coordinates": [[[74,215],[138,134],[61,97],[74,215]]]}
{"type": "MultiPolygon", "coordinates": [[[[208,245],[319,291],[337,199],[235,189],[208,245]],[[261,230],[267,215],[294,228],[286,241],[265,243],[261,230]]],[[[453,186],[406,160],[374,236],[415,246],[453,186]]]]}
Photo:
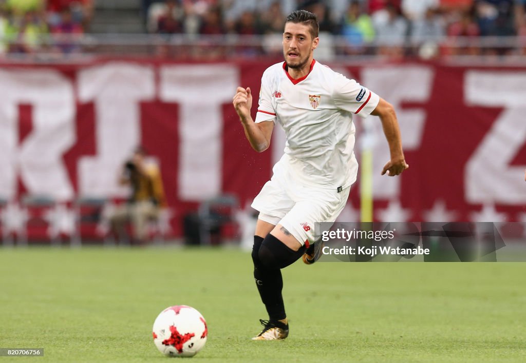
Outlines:
{"type": "MultiPolygon", "coordinates": [[[[90,32],[94,3],[0,0],[0,53],[72,53],[77,47],[71,39],[90,32]]],[[[407,55],[409,45],[432,57],[444,52],[444,39],[456,38],[462,42],[449,53],[523,54],[523,46],[482,49],[469,39],[526,35],[525,7],[526,0],[142,0],[138,11],[145,33],[261,36],[261,49],[243,48],[250,56],[277,51],[279,40],[265,47],[265,37],[280,36],[286,15],[302,8],[318,16],[324,42],[338,45],[338,54],[396,57],[407,55]]]]}

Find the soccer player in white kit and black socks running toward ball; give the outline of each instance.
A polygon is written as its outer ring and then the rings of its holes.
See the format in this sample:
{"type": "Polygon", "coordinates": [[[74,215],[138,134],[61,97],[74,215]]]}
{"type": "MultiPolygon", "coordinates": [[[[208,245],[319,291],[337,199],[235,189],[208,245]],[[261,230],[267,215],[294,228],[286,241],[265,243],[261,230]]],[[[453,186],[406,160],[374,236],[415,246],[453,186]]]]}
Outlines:
{"type": "Polygon", "coordinates": [[[334,222],[356,181],[352,114],[379,116],[391,160],[382,175],[399,175],[404,160],[393,107],[355,80],[313,59],[319,43],[316,16],[305,10],[288,15],[283,34],[285,62],[270,66],[261,79],[259,108],[252,120],[252,92],[238,87],[233,104],[252,148],[270,146],[276,122],[285,129],[285,154],[256,196],[259,211],[252,248],[256,286],[268,320],[253,340],[285,339],[289,333],[281,295],[281,268],[294,263],[320,238],[316,222],[334,222]]]}

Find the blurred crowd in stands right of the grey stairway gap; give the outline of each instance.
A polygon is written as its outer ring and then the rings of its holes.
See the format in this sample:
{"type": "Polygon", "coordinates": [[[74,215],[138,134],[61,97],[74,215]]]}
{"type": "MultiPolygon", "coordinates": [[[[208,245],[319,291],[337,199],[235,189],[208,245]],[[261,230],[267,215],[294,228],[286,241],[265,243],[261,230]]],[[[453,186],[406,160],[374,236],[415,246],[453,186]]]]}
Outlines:
{"type": "Polygon", "coordinates": [[[526,0],[145,0],[144,8],[150,33],[279,36],[287,14],[307,9],[318,16],[323,42],[343,40],[339,54],[396,57],[412,46],[432,57],[446,37],[462,38],[448,53],[510,53],[511,47],[482,50],[469,38],[526,35],[525,5],[526,0]]]}

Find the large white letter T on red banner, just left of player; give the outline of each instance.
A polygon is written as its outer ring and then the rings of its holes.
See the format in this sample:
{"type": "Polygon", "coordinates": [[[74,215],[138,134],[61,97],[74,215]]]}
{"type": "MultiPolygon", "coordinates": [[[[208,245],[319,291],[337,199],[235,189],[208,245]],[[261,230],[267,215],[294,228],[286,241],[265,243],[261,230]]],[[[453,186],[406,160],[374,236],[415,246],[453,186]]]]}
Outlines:
{"type": "Polygon", "coordinates": [[[160,78],[161,101],[179,103],[179,198],[216,196],[222,173],[221,105],[232,101],[238,70],[229,65],[164,66],[160,78]]]}

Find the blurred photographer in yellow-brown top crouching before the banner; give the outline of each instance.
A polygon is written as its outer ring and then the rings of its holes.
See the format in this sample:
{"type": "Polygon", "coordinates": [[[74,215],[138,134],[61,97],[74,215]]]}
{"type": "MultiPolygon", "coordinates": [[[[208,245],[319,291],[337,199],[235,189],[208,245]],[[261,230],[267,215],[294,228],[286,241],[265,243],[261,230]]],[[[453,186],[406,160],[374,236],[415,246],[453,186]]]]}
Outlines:
{"type": "Polygon", "coordinates": [[[167,206],[160,170],[156,164],[146,162],[145,158],[145,149],[138,147],[124,164],[119,184],[129,185],[131,195],[110,216],[112,231],[121,239],[126,235],[126,223],[130,222],[134,242],[138,244],[147,237],[148,221],[156,220],[160,210],[167,206]]]}

